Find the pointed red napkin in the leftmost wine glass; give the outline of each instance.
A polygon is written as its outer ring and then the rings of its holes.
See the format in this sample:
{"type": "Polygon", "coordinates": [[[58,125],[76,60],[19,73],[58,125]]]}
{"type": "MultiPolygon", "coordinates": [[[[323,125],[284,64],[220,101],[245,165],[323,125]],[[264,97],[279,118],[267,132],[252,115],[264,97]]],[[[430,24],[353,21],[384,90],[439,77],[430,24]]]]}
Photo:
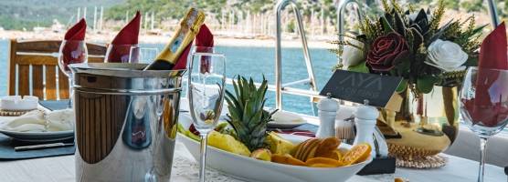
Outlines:
{"type": "Polygon", "coordinates": [[[77,53],[79,52],[75,52],[75,50],[77,50],[80,46],[80,44],[77,41],[85,40],[86,31],[87,31],[87,22],[85,21],[84,18],[81,18],[78,24],[70,27],[67,33],[65,33],[64,40],[68,41],[68,43],[64,45],[62,49],[62,54],[65,63],[67,64],[81,63],[82,60],[84,60],[85,55],[84,54],[77,55],[77,53]]]}

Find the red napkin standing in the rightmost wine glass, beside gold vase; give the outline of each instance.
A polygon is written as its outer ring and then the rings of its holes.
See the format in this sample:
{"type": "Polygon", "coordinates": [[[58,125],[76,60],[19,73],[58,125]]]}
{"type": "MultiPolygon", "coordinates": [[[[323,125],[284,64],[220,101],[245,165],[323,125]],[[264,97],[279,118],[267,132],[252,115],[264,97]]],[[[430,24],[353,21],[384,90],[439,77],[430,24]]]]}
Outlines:
{"type": "Polygon", "coordinates": [[[499,25],[482,42],[478,74],[476,77],[475,98],[465,100],[473,123],[482,122],[484,126],[497,126],[506,119],[508,107],[503,106],[503,89],[508,87],[506,76],[489,69],[508,70],[506,27],[499,25]],[[497,81],[497,82],[496,82],[497,81]]]}

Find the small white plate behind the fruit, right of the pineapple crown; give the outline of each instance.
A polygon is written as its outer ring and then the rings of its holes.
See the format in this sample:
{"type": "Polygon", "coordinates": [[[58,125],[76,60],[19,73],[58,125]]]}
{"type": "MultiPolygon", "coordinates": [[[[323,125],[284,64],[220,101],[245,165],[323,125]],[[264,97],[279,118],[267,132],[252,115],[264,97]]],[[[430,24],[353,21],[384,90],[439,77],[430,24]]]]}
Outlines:
{"type": "Polygon", "coordinates": [[[273,121],[268,123],[268,126],[271,128],[294,128],[307,123],[299,114],[288,111],[278,111],[272,118],[273,121]]]}

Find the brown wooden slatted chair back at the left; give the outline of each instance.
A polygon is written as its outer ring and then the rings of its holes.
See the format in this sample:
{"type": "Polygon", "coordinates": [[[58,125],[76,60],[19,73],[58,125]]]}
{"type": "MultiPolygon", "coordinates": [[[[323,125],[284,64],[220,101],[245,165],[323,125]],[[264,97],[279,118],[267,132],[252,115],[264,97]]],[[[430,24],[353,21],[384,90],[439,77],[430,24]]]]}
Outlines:
{"type": "MultiPolygon", "coordinates": [[[[10,41],[9,96],[38,96],[41,100],[69,98],[69,80],[58,68],[61,41],[10,41]]],[[[90,63],[104,61],[106,46],[87,43],[90,63]]]]}

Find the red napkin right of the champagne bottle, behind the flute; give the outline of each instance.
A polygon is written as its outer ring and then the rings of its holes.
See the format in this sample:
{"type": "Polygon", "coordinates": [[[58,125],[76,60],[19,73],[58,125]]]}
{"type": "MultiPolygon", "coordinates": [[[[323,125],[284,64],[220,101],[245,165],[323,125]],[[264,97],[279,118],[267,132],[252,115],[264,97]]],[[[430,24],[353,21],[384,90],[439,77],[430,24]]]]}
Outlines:
{"type": "MultiPolygon", "coordinates": [[[[182,53],[180,58],[178,59],[178,62],[176,62],[176,65],[173,67],[173,69],[185,69],[187,66],[187,56],[190,52],[190,47],[192,44],[187,45],[185,48],[185,51],[182,53]]],[[[212,32],[208,27],[203,24],[199,28],[199,32],[196,35],[196,46],[206,46],[206,47],[213,47],[214,46],[214,35],[212,35],[212,32]]],[[[196,50],[196,51],[203,51],[203,50],[196,50]]],[[[205,57],[209,58],[209,57],[205,57]]],[[[210,63],[210,60],[202,61],[201,63],[205,63],[206,66],[201,67],[208,67],[207,64],[210,63]]]]}

